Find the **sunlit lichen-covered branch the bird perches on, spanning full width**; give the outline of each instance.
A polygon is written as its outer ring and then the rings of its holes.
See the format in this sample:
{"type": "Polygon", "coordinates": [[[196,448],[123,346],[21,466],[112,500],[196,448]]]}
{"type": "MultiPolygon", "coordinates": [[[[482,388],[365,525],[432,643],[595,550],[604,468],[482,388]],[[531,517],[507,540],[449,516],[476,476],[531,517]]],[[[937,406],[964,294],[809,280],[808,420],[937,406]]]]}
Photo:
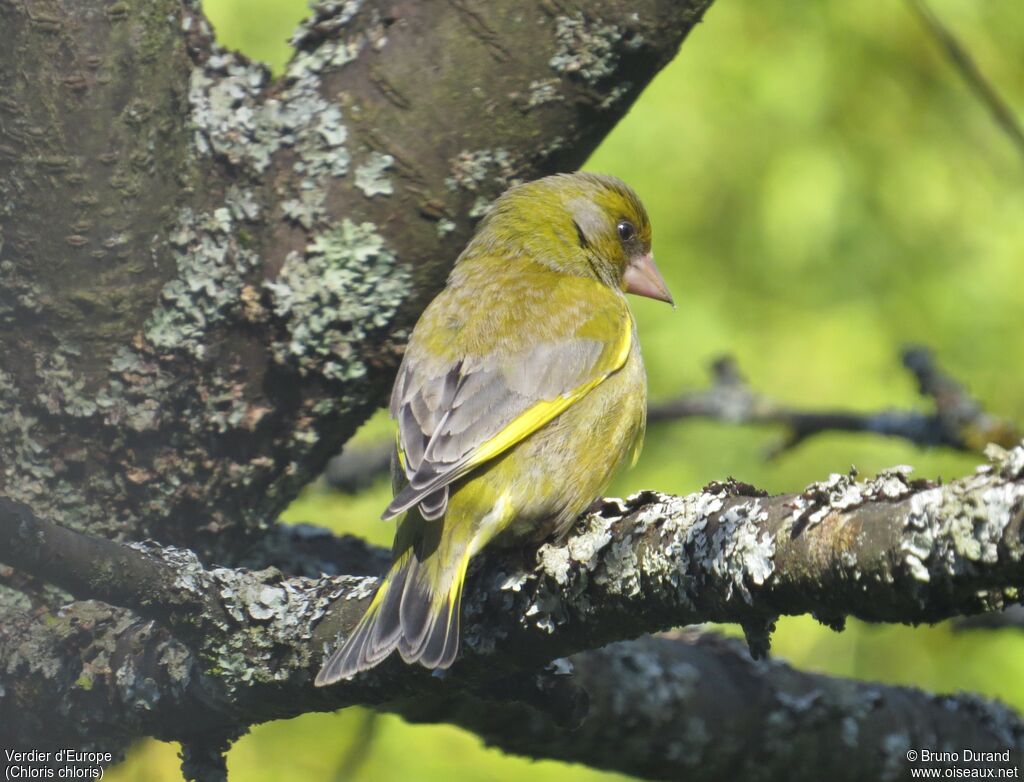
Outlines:
{"type": "MultiPolygon", "coordinates": [[[[514,694],[548,719],[560,714],[570,723],[564,686],[552,702],[544,696],[550,687],[531,693],[523,681],[555,658],[644,633],[736,621],[761,654],[780,614],[812,612],[834,626],[847,615],[921,622],[1019,601],[1024,446],[992,455],[976,475],[944,486],[890,471],[859,483],[834,476],[791,495],[769,497],[728,483],[686,497],[647,492],[609,501],[562,544],[483,557],[466,596],[463,655],[443,680],[389,660],[326,690],[312,688],[312,678],[337,635],[358,619],[375,578],[207,568],[187,552],[155,545],[96,540],[87,549],[81,533],[57,537],[51,523],[5,508],[0,534],[15,545],[0,558],[82,597],[121,601],[132,610],[72,604],[71,615],[86,612],[92,625],[108,623],[92,643],[119,647],[100,639],[142,626],[163,651],[158,655],[151,642],[135,639],[138,645],[125,653],[141,655],[140,667],[113,676],[90,663],[84,687],[86,659],[56,662],[67,649],[40,643],[38,634],[51,631],[27,615],[0,628],[0,658],[7,661],[0,718],[30,701],[38,710],[45,691],[73,715],[47,725],[47,735],[98,740],[108,735],[110,712],[91,710],[90,699],[122,703],[128,691],[133,700],[115,723],[119,731],[180,737],[197,729],[190,714],[198,704],[205,708],[204,728],[229,732],[307,710],[429,703],[455,692],[485,700],[514,694]],[[53,550],[49,559],[63,566],[35,563],[18,536],[42,537],[53,550]],[[93,570],[101,575],[79,574],[76,563],[86,556],[100,564],[93,570]],[[108,571],[102,565],[115,558],[122,566],[108,571]],[[135,596],[119,583],[119,573],[135,585],[135,596]],[[193,610],[174,610],[181,604],[193,610]],[[31,654],[28,640],[36,644],[31,654]]],[[[17,730],[22,740],[33,738],[31,725],[17,730]]]]}

